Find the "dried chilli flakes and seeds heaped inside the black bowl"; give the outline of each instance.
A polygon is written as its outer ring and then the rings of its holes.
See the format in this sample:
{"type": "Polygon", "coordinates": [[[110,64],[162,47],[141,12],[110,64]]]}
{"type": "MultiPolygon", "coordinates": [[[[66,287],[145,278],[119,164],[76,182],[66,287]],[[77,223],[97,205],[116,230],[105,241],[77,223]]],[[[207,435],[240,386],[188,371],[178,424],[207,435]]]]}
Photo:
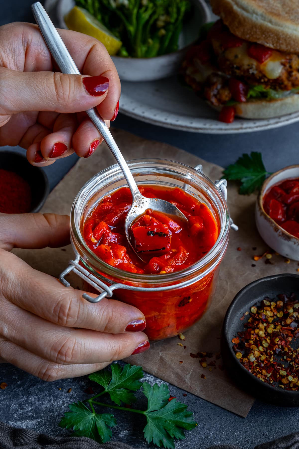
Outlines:
{"type": "MultiPolygon", "coordinates": [[[[251,307],[251,315],[233,346],[240,363],[273,387],[299,390],[299,301],[295,294],[265,297],[251,307]]],[[[220,366],[219,366],[220,368],[220,366]]]]}

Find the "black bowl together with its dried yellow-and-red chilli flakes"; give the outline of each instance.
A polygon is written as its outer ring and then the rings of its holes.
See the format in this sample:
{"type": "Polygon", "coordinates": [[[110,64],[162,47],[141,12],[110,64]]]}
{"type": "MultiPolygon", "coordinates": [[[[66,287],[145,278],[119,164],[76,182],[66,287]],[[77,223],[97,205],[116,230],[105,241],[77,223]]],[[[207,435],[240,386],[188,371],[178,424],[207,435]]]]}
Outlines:
{"type": "Polygon", "coordinates": [[[251,282],[237,293],[226,312],[223,362],[234,382],[261,401],[299,406],[297,317],[299,275],[291,273],[251,282]]]}

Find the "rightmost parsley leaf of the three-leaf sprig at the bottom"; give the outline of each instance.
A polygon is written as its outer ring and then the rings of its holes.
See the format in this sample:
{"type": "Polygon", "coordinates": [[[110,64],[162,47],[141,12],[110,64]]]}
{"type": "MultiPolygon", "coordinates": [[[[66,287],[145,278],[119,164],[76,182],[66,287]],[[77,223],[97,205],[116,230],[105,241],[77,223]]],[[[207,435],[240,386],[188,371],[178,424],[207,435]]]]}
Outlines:
{"type": "Polygon", "coordinates": [[[143,393],[148,399],[147,425],[144,427],[144,437],[148,443],[153,442],[159,448],[174,449],[173,438],[185,439],[184,430],[194,429],[196,423],[193,413],[186,411],[187,406],[173,399],[168,402],[169,389],[166,384],[153,387],[143,383],[143,393]]]}

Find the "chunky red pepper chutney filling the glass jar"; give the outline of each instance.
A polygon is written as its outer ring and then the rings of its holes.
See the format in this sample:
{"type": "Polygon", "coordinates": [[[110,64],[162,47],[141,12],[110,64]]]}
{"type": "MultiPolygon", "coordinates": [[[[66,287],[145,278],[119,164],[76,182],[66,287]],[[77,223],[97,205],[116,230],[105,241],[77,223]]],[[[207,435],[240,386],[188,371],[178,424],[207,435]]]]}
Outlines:
{"type": "MultiPolygon", "coordinates": [[[[214,246],[219,223],[206,204],[180,188],[155,185],[139,186],[148,198],[172,202],[187,217],[189,226],[160,212],[148,210],[134,222],[131,232],[136,250],[128,245],[124,223],[131,206],[126,187],[103,198],[83,225],[83,237],[91,250],[104,262],[136,274],[173,273],[199,261],[214,246]]],[[[114,295],[139,308],[146,317],[146,333],[151,340],[172,337],[192,326],[207,308],[213,292],[217,267],[199,282],[184,289],[143,292],[122,290],[114,295]],[[154,298],[153,298],[154,296],[154,298]]]]}

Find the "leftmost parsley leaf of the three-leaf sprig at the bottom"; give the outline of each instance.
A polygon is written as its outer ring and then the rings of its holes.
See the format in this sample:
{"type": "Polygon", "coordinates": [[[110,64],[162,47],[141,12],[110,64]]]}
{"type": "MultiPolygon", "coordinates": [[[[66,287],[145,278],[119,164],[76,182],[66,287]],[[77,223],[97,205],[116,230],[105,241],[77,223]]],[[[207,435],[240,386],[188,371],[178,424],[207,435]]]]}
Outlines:
{"type": "Polygon", "coordinates": [[[75,436],[87,436],[98,443],[111,440],[110,427],[116,426],[116,419],[111,414],[97,414],[78,401],[69,404],[70,412],[65,412],[59,423],[60,427],[72,428],[75,436]]]}

